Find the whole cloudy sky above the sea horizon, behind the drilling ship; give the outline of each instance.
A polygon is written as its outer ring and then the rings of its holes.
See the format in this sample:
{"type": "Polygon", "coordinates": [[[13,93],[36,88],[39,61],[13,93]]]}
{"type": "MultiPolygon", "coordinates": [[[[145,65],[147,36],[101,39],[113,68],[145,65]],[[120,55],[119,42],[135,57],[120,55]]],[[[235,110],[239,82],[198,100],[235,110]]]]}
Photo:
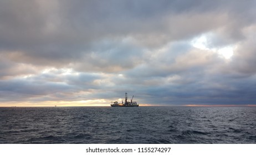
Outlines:
{"type": "Polygon", "coordinates": [[[0,106],[256,106],[256,1],[0,1],[0,106]]]}

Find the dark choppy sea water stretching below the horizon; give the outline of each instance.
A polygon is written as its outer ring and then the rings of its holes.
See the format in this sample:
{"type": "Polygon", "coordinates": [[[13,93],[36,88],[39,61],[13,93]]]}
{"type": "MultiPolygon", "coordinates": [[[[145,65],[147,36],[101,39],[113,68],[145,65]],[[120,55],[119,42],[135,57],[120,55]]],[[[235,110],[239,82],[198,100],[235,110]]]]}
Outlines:
{"type": "Polygon", "coordinates": [[[256,143],[256,107],[1,107],[0,143],[256,143]]]}

